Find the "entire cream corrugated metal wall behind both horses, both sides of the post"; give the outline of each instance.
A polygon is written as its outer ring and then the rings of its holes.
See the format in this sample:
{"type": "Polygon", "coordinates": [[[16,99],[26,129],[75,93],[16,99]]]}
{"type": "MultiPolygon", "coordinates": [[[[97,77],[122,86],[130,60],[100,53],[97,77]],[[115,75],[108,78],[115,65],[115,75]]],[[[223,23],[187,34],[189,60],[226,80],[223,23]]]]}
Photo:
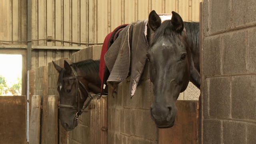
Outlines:
{"type": "MultiPolygon", "coordinates": [[[[30,12],[31,38],[39,40],[32,42],[31,68],[34,69],[61,57],[70,58],[81,46],[89,46],[85,43],[103,43],[114,28],[144,20],[151,10],[157,13],[176,11],[184,21],[199,21],[201,1],[31,0],[32,7],[28,9],[29,0],[0,0],[0,40],[26,41],[27,12],[30,12]],[[48,38],[60,41],[47,41],[48,38]]],[[[27,45],[26,42],[0,42],[0,48],[27,48],[27,45]]]]}

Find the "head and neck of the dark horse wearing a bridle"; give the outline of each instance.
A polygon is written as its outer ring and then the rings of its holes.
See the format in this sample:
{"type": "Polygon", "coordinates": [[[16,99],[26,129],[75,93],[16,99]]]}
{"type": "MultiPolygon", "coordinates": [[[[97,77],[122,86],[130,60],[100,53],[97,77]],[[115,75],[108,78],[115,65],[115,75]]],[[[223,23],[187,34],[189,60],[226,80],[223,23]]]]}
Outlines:
{"type": "Polygon", "coordinates": [[[58,92],[60,94],[59,118],[65,130],[73,130],[77,119],[88,106],[92,96],[99,94],[101,80],[99,77],[99,60],[84,60],[72,64],[64,61],[64,68],[52,61],[59,72],[58,92]],[[84,102],[90,98],[86,105],[84,102]]]}

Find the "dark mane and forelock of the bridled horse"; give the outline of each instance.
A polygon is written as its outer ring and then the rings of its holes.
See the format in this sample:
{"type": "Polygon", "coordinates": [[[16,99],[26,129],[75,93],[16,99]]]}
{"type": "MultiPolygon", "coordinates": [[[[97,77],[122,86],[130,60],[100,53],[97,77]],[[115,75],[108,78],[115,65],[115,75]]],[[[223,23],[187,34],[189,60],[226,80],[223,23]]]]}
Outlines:
{"type": "MultiPolygon", "coordinates": [[[[79,69],[84,73],[99,73],[99,67],[100,67],[100,60],[83,60],[80,62],[74,62],[70,64],[75,70],[79,69]]],[[[60,84],[60,78],[65,77],[66,69],[62,68],[62,71],[59,74],[58,77],[58,84],[60,84]]]]}

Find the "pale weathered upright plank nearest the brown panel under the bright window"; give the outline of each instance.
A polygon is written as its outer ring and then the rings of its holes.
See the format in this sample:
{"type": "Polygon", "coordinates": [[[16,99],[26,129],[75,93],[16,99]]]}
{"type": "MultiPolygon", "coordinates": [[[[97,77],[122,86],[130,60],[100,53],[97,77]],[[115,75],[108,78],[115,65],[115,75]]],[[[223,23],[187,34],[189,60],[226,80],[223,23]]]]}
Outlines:
{"type": "Polygon", "coordinates": [[[41,96],[34,95],[31,98],[31,115],[29,128],[29,143],[40,144],[40,112],[41,96]]]}

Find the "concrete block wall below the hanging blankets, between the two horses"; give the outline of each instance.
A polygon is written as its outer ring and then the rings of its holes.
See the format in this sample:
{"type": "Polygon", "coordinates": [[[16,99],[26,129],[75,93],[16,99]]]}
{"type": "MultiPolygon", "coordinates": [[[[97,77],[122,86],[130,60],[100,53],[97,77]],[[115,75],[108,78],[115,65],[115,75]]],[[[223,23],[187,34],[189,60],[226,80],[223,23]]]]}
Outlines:
{"type": "MultiPolygon", "coordinates": [[[[147,64],[132,99],[129,84],[130,77],[118,84],[115,98],[108,96],[108,144],[158,144],[158,128],[150,117],[154,86],[147,64]]],[[[178,100],[198,100],[199,95],[200,90],[190,83],[178,100]]]]}

